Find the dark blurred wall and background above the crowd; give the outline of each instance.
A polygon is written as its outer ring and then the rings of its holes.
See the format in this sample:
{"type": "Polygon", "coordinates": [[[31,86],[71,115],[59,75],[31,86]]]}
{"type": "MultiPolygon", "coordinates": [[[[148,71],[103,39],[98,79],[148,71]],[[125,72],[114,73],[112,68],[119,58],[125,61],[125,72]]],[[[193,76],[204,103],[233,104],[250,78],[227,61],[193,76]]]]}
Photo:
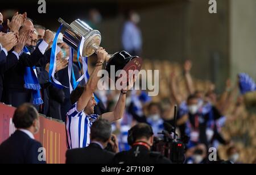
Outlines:
{"type": "Polygon", "coordinates": [[[78,18],[86,20],[89,9],[96,8],[102,15],[102,22],[98,26],[102,46],[109,53],[115,53],[122,49],[125,12],[133,9],[141,15],[139,27],[143,36],[143,58],[178,63],[190,59],[193,61],[192,74],[214,82],[218,90],[224,89],[227,78],[236,80],[240,72],[247,72],[255,79],[256,1],[217,0],[217,14],[209,14],[208,2],[46,0],[46,14],[39,14],[37,0],[9,0],[1,2],[0,11],[26,11],[35,23],[56,31],[59,17],[68,23],[78,18]]]}

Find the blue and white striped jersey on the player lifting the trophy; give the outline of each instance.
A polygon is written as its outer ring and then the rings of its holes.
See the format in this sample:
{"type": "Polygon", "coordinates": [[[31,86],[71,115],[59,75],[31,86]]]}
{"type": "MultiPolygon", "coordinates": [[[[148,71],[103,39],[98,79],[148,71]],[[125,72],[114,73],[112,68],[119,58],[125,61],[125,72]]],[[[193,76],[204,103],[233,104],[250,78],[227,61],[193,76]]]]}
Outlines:
{"type": "Polygon", "coordinates": [[[98,119],[98,115],[86,115],[77,111],[75,103],[67,113],[66,134],[68,149],[84,148],[90,144],[90,127],[98,119]]]}

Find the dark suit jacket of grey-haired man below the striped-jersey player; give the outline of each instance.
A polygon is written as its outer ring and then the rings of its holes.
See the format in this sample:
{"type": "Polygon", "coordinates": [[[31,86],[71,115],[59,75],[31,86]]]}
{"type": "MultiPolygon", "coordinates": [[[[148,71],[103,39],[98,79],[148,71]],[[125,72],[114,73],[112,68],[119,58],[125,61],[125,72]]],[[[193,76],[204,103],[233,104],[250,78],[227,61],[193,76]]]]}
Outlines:
{"type": "Polygon", "coordinates": [[[114,153],[106,151],[96,143],[86,148],[69,149],[66,153],[67,164],[110,164],[114,153]]]}

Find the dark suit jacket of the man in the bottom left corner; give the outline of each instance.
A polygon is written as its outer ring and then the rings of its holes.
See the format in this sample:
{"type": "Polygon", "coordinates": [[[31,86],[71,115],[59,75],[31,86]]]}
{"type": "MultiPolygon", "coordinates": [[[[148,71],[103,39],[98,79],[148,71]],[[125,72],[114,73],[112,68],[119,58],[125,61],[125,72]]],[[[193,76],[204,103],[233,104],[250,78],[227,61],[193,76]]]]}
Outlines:
{"type": "Polygon", "coordinates": [[[45,164],[38,157],[42,144],[22,131],[15,131],[0,145],[0,164],[45,164]]]}

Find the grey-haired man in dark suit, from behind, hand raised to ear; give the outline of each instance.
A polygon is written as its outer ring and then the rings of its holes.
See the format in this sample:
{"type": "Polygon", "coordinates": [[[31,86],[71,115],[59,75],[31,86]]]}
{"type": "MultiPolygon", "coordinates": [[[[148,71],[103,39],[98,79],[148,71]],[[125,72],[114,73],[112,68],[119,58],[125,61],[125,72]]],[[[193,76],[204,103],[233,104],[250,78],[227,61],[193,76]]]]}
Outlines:
{"type": "Polygon", "coordinates": [[[110,143],[115,153],[118,152],[118,142],[113,136],[108,120],[100,119],[93,123],[90,129],[91,143],[86,148],[70,149],[66,153],[67,164],[109,164],[114,157],[113,152],[104,148],[110,143]],[[115,143],[114,143],[115,142],[115,143]]]}

